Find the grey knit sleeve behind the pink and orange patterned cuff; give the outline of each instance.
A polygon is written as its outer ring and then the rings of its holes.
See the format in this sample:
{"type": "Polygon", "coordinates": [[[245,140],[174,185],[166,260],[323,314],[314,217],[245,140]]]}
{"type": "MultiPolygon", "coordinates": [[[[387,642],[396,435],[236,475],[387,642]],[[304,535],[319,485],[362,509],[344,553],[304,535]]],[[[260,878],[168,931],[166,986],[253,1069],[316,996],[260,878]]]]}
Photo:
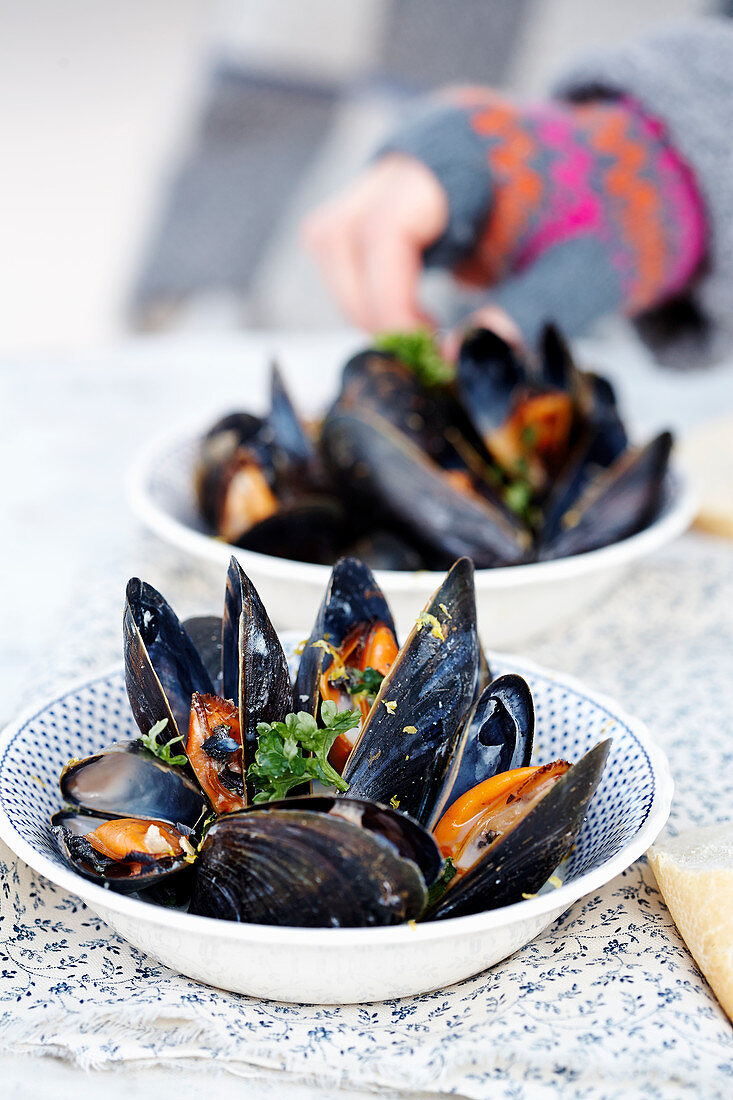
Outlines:
{"type": "Polygon", "coordinates": [[[699,364],[733,344],[733,25],[676,23],[619,50],[580,58],[554,94],[583,99],[626,92],[665,123],[705,205],[704,271],[675,307],[638,319],[664,361],[699,364]]]}

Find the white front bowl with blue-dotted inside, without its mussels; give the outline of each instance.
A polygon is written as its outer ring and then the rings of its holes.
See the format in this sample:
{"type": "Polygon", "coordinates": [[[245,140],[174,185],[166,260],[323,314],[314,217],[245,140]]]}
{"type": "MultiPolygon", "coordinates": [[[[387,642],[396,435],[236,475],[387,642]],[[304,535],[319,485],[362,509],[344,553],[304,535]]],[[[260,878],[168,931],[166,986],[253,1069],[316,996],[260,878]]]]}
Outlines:
{"type": "Polygon", "coordinates": [[[62,860],[48,820],[61,806],[57,777],[70,757],[136,733],[121,669],[68,688],[0,735],[0,837],[135,947],[210,986],[346,1004],[451,985],[506,958],[638,858],[663,828],[672,793],[664,754],[613,701],[526,661],[490,660],[495,674],[515,670],[532,685],[536,760],[577,760],[613,738],[601,785],[560,869],[564,884],[535,899],[434,924],[278,928],[190,916],[86,881],[62,860]]]}

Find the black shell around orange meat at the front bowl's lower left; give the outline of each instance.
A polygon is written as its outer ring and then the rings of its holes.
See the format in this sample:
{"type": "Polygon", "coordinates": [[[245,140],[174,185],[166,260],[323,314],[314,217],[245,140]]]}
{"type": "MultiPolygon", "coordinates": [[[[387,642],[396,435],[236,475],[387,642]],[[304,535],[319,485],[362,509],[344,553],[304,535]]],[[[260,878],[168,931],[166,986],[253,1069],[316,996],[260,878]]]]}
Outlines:
{"type": "Polygon", "coordinates": [[[69,811],[53,815],[51,825],[56,844],[74,870],[83,878],[118,893],[154,890],[154,900],[162,903],[167,899],[171,899],[169,904],[180,904],[187,900],[180,879],[189,876],[190,867],[183,857],[161,860],[136,854],[134,860],[116,860],[103,856],[89,844],[86,836],[111,820],[113,818],[109,816],[98,817],[69,811]]]}

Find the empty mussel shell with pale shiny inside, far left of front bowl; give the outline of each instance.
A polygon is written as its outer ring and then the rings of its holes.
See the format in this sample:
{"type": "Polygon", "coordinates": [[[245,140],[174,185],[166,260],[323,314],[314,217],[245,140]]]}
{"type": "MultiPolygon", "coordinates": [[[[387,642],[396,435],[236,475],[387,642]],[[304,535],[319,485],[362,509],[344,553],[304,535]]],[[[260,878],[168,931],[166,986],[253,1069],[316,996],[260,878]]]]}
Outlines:
{"type": "Polygon", "coordinates": [[[152,817],[193,828],[208,813],[198,787],[140,741],[120,741],[68,763],[59,779],[64,800],[100,816],[152,817]]]}

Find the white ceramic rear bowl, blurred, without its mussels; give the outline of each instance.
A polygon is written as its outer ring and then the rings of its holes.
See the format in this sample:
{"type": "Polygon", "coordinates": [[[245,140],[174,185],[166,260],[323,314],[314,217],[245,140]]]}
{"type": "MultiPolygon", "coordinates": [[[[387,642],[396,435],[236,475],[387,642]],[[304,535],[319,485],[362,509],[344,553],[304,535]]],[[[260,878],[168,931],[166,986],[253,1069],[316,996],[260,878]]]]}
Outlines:
{"type": "MultiPolygon", "coordinates": [[[[208,426],[207,426],[208,427],[208,426]]],[[[165,541],[216,566],[216,583],[232,553],[262,596],[277,627],[307,634],[328,583],[330,568],[240,550],[206,531],[194,497],[193,470],[201,431],[156,439],[141,453],[128,476],[128,497],[138,518],[165,541]]],[[[670,475],[660,516],[622,542],[557,561],[480,569],[475,573],[479,628],[483,641],[512,648],[578,616],[641,558],[689,527],[694,502],[685,480],[670,475]]],[[[404,636],[444,579],[427,570],[376,570],[397,629],[404,636]]]]}

